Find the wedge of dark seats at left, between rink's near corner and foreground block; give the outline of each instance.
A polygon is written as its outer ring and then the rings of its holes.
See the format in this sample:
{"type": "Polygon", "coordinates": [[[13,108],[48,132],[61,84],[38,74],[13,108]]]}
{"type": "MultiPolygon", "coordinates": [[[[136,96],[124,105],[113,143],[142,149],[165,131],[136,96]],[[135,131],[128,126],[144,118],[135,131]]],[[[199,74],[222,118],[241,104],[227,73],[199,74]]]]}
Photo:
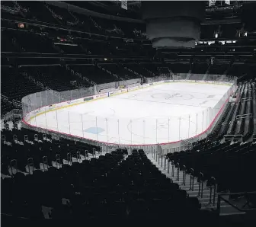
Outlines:
{"type": "MultiPolygon", "coordinates": [[[[35,133],[30,129],[2,129],[2,173],[10,174],[10,168],[15,171],[27,171],[28,159],[33,158],[33,168],[40,169],[41,164],[46,166],[62,165],[63,160],[72,161],[72,158],[81,159],[81,155],[88,156],[101,152],[99,147],[70,139],[52,139],[43,133],[35,133]],[[47,157],[43,159],[43,157],[47,157]],[[10,162],[14,161],[12,164],[10,162]]],[[[30,166],[31,166],[30,165],[30,166]]],[[[30,170],[29,170],[30,171],[30,170]]]]}

